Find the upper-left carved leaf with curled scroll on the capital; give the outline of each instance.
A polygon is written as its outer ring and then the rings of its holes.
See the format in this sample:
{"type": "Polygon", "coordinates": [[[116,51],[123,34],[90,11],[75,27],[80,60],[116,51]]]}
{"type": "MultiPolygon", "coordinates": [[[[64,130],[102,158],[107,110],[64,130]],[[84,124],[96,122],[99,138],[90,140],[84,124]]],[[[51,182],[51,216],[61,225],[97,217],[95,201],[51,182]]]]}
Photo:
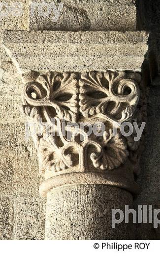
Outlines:
{"type": "MultiPolygon", "coordinates": [[[[74,73],[48,72],[34,82],[25,85],[23,91],[25,112],[30,108],[41,108],[47,122],[58,116],[60,119],[76,122],[77,79],[74,73]]],[[[32,110],[28,111],[32,114],[32,110]]]]}

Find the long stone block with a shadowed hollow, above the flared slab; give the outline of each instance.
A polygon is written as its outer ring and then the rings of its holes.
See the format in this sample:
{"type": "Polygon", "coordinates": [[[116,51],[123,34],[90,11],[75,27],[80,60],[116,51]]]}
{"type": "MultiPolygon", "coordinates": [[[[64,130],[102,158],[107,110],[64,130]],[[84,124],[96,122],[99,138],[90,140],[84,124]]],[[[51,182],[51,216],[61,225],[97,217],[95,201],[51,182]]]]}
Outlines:
{"type": "MultiPolygon", "coordinates": [[[[32,0],[41,3],[41,0],[32,0]]],[[[136,3],[132,0],[63,0],[63,8],[59,10],[58,20],[54,21],[55,11],[42,17],[38,6],[34,16],[31,15],[30,30],[55,31],[135,31],[136,3]]],[[[45,0],[45,3],[55,3],[59,8],[59,0],[45,0]]],[[[42,13],[46,10],[42,8],[42,13]]]]}

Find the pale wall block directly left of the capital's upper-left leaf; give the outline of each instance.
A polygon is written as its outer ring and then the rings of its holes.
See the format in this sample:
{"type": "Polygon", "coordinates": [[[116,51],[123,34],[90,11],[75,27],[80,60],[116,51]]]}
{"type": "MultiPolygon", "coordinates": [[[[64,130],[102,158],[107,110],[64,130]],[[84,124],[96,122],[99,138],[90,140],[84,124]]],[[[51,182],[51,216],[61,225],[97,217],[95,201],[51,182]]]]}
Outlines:
{"type": "Polygon", "coordinates": [[[0,66],[0,124],[24,123],[19,107],[22,92],[21,77],[17,74],[11,59],[6,58],[5,55],[3,57],[0,66]]]}

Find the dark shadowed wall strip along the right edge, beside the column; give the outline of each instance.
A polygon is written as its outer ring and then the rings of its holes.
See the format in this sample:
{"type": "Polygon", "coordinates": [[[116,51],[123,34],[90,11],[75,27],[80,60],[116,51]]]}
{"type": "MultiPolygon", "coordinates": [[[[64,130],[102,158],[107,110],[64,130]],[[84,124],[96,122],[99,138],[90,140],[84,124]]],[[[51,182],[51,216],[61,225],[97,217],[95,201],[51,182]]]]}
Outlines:
{"type": "MultiPolygon", "coordinates": [[[[152,205],[160,209],[160,0],[137,1],[137,30],[150,32],[149,66],[151,85],[148,95],[148,131],[141,158],[141,174],[137,182],[141,194],[134,207],[152,205]]],[[[160,216],[158,215],[159,219],[160,216]]],[[[160,239],[160,226],[136,224],[136,239],[160,239]]]]}

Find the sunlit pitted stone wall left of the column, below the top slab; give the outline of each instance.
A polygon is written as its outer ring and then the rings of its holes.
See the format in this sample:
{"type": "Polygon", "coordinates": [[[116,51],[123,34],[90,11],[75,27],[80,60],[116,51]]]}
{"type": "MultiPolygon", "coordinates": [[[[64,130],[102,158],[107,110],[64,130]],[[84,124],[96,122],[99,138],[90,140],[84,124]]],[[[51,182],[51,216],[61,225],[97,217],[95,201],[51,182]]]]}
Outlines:
{"type": "Polygon", "coordinates": [[[0,67],[0,240],[43,239],[45,200],[36,151],[19,110],[22,82],[7,58],[0,67]]]}

